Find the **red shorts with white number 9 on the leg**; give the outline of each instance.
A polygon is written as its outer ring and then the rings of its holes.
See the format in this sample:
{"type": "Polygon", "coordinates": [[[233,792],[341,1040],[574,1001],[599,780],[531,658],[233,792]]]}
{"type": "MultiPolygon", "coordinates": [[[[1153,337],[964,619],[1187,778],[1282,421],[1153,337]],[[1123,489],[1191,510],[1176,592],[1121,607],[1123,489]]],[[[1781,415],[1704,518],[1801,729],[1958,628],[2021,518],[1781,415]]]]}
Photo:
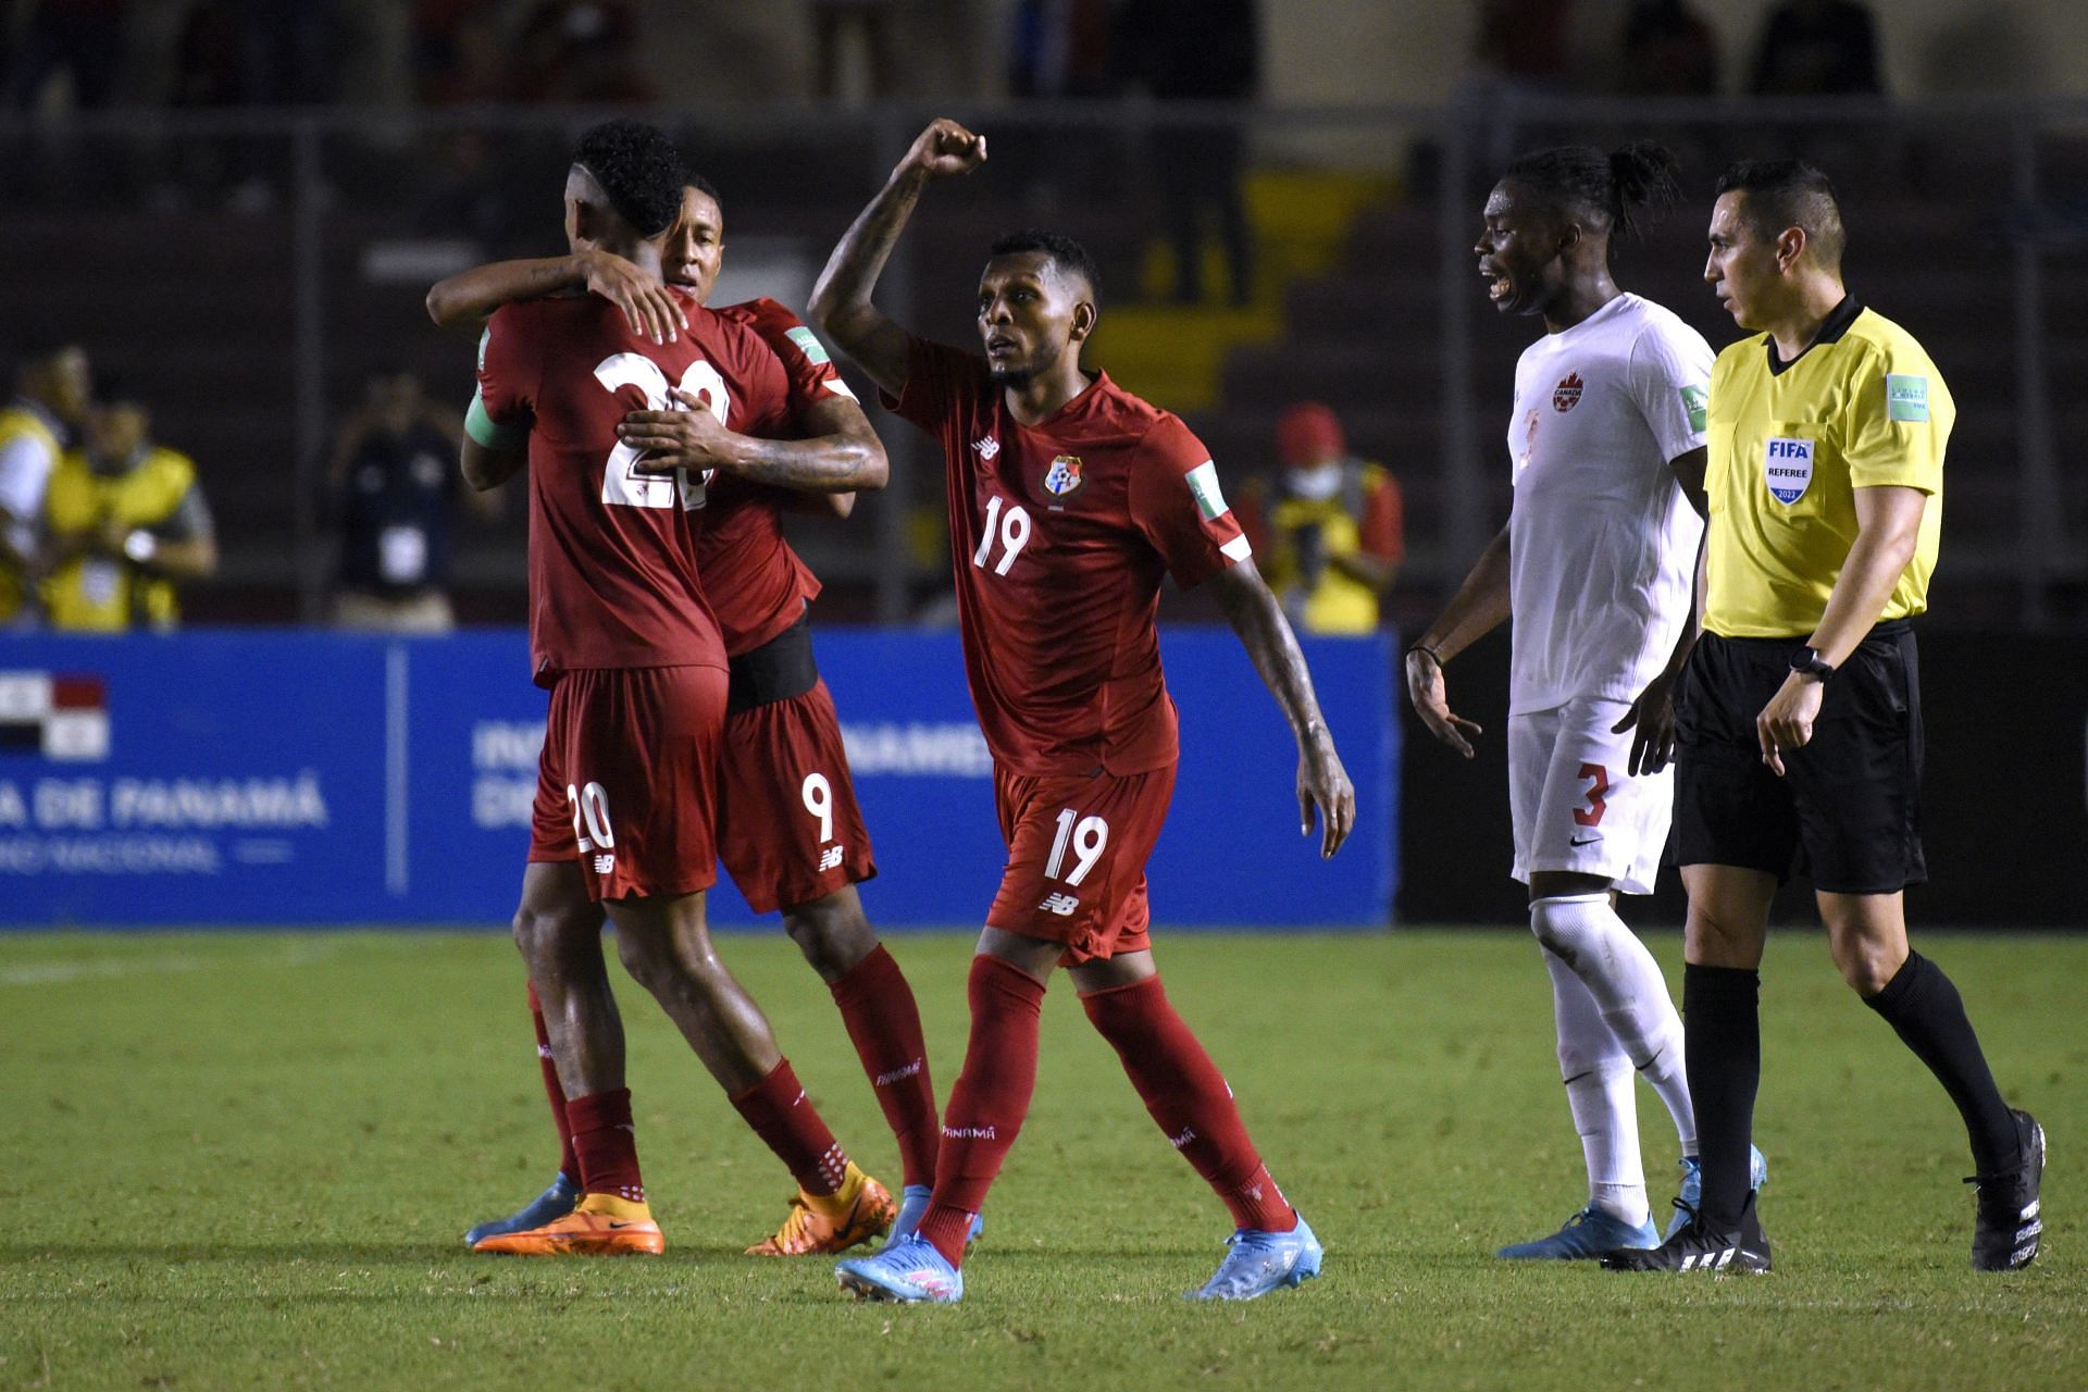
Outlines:
{"type": "Polygon", "coordinates": [[[718,860],[756,914],[877,874],[827,682],[725,718],[718,860]]]}

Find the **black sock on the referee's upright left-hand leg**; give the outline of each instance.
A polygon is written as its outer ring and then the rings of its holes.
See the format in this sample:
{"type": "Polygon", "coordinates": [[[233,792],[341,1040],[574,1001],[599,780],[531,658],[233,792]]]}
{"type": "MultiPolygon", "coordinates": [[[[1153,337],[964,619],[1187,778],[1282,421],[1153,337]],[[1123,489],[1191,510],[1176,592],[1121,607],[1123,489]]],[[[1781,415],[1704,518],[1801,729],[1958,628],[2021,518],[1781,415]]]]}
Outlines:
{"type": "Polygon", "coordinates": [[[1683,964],[1683,1062],[1704,1158],[1704,1221],[1716,1231],[1737,1227],[1748,1202],[1754,1091],[1762,1083],[1760,991],[1758,970],[1683,964]]]}

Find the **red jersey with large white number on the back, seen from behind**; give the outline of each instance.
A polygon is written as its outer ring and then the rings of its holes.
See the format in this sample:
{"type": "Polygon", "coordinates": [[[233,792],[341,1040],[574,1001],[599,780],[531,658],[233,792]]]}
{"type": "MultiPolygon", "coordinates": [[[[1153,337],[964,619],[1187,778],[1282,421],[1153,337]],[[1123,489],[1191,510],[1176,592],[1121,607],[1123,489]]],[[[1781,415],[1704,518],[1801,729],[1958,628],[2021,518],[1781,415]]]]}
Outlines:
{"type": "Polygon", "coordinates": [[[616,440],[626,411],[664,409],[668,384],[708,392],[743,434],[789,426],[777,355],[743,323],[687,305],[689,332],[651,344],[603,298],[507,305],[480,346],[478,390],[495,422],[535,415],[530,476],[530,666],[549,687],[572,668],[725,666],[697,580],[699,495],[633,474],[616,440]]]}

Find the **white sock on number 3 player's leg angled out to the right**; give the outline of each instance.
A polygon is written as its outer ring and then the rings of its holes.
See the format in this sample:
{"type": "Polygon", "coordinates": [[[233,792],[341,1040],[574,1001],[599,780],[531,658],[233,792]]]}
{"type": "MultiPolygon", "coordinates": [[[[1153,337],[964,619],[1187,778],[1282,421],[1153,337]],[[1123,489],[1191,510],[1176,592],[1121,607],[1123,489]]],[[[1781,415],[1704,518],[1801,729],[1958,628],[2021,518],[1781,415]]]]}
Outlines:
{"type": "MultiPolygon", "coordinates": [[[[1553,968],[1553,1002],[1564,1000],[1558,968],[1566,966],[1593,1000],[1599,1025],[1614,1039],[1614,1048],[1660,1094],[1675,1119],[1681,1152],[1695,1154],[1695,1108],[1689,1106],[1689,1079],[1683,1069],[1683,1021],[1675,1012],[1675,1000],[1654,954],[1616,916],[1606,893],[1535,899],[1531,931],[1545,945],[1545,962],[1553,968]]],[[[1560,1006],[1560,1058],[1566,1058],[1564,1006],[1560,1006]]]]}

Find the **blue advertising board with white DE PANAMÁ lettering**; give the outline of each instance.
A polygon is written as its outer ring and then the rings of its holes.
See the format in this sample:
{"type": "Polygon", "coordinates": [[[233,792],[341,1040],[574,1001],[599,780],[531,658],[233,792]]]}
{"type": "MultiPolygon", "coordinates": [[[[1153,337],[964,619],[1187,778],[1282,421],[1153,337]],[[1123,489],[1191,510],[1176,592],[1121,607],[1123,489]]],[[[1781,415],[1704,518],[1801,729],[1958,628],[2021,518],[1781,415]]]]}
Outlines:
{"type": "MultiPolygon", "coordinates": [[[[979,925],[1002,845],[956,634],[825,630],[816,647],[877,847],[871,918],[979,925]]],[[[1386,922],[1391,645],[1305,649],[1357,785],[1357,833],[1332,862],[1299,835],[1295,745],[1238,641],[1163,632],[1182,768],[1150,864],[1159,922],[1386,922]]],[[[0,927],[501,927],[543,720],[528,645],[509,630],[8,637],[0,927]]],[[[712,918],[760,922],[731,881],[712,918]]]]}

